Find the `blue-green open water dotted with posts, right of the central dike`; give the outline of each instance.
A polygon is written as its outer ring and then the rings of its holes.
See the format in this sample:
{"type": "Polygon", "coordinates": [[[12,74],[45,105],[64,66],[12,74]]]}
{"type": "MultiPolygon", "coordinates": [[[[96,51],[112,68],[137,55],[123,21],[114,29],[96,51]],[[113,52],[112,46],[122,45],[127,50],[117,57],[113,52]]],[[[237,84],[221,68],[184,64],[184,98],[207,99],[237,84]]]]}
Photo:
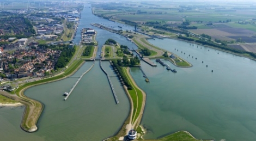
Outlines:
{"type": "Polygon", "coordinates": [[[186,130],[198,139],[256,139],[254,60],[184,41],[149,41],[193,66],[177,68],[166,62],[178,71],[173,73],[161,65],[153,68],[142,63],[150,83],[145,83],[139,69],[131,69],[132,77],[147,93],[141,124],[149,132],[144,138],[186,130]]]}

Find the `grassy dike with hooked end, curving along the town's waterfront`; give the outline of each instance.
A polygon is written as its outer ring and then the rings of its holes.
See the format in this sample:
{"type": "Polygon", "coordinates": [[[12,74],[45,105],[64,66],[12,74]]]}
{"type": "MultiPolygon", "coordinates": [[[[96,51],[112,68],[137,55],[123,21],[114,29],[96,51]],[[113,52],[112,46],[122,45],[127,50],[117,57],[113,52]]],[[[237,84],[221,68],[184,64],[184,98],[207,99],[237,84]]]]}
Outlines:
{"type": "Polygon", "coordinates": [[[25,112],[23,113],[22,121],[21,121],[21,128],[24,131],[35,132],[37,130],[36,123],[42,113],[42,110],[44,109],[44,105],[41,102],[25,96],[24,91],[35,85],[50,83],[54,81],[59,81],[60,79],[64,79],[74,74],[82,66],[83,63],[84,63],[84,60],[75,60],[72,63],[72,65],[70,65],[70,67],[60,75],[40,79],[39,81],[26,83],[21,87],[19,87],[18,89],[16,89],[15,94],[17,94],[20,97],[19,101],[26,107],[25,112]]]}

